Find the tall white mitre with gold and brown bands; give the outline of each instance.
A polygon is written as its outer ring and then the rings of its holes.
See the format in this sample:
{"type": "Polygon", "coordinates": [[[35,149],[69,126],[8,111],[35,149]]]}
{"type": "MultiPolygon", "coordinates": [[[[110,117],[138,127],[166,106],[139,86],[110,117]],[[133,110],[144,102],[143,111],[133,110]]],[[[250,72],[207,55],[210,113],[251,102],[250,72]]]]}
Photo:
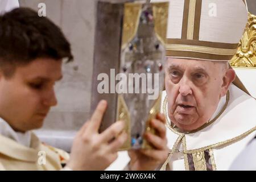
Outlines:
{"type": "MultiPolygon", "coordinates": [[[[164,0],[153,0],[162,2],[164,0]]],[[[247,23],[242,0],[168,0],[167,57],[229,61],[247,23]]],[[[233,82],[245,91],[238,77],[233,82]]]]}

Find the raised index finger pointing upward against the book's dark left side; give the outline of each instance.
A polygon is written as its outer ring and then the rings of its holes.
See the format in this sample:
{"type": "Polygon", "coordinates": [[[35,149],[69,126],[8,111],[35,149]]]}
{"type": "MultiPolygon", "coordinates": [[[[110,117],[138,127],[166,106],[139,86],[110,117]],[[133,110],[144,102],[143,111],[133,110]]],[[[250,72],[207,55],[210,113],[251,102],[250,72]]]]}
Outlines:
{"type": "Polygon", "coordinates": [[[105,100],[100,101],[94,111],[92,118],[90,118],[90,125],[88,126],[89,131],[98,131],[101,125],[102,117],[106,111],[107,102],[105,100]]]}

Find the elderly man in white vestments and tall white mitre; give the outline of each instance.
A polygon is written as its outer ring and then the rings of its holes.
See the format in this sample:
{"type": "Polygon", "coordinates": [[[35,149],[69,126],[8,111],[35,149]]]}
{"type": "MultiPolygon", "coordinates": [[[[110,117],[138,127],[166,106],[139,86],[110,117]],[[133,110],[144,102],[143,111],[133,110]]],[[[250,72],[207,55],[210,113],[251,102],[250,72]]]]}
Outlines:
{"type": "MultiPolygon", "coordinates": [[[[170,151],[159,169],[229,170],[236,163],[252,169],[253,161],[237,157],[256,135],[256,100],[228,66],[245,30],[246,6],[242,0],[169,2],[162,112],[170,151]]],[[[109,169],[129,161],[119,155],[109,169]]]]}

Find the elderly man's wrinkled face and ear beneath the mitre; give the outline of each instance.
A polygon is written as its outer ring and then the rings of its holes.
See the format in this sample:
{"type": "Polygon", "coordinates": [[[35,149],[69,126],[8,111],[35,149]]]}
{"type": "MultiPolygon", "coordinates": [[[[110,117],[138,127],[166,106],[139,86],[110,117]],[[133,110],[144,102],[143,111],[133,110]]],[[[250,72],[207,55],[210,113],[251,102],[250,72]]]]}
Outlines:
{"type": "Polygon", "coordinates": [[[234,80],[233,69],[213,61],[169,58],[166,65],[168,116],[179,129],[203,126],[234,80]]]}

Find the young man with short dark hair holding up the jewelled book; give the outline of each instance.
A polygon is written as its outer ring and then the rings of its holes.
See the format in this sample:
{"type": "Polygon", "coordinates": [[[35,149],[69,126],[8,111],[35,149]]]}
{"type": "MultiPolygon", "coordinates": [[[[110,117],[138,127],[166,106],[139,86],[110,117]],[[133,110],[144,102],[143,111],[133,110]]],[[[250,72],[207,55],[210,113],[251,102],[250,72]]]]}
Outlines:
{"type": "MultiPolygon", "coordinates": [[[[57,150],[42,144],[31,130],[42,127],[49,109],[57,104],[54,84],[62,77],[63,59],[73,59],[71,46],[49,19],[26,8],[0,16],[0,169],[62,169],[57,150]],[[42,154],[45,162],[38,156],[42,154]]],[[[103,170],[117,158],[127,134],[122,132],[123,122],[98,133],[106,107],[101,101],[78,131],[65,169],[103,170]]],[[[161,137],[148,134],[146,139],[155,148],[144,152],[152,166],[162,162],[159,154],[168,154],[164,117],[157,118],[152,127],[161,137]]]]}

